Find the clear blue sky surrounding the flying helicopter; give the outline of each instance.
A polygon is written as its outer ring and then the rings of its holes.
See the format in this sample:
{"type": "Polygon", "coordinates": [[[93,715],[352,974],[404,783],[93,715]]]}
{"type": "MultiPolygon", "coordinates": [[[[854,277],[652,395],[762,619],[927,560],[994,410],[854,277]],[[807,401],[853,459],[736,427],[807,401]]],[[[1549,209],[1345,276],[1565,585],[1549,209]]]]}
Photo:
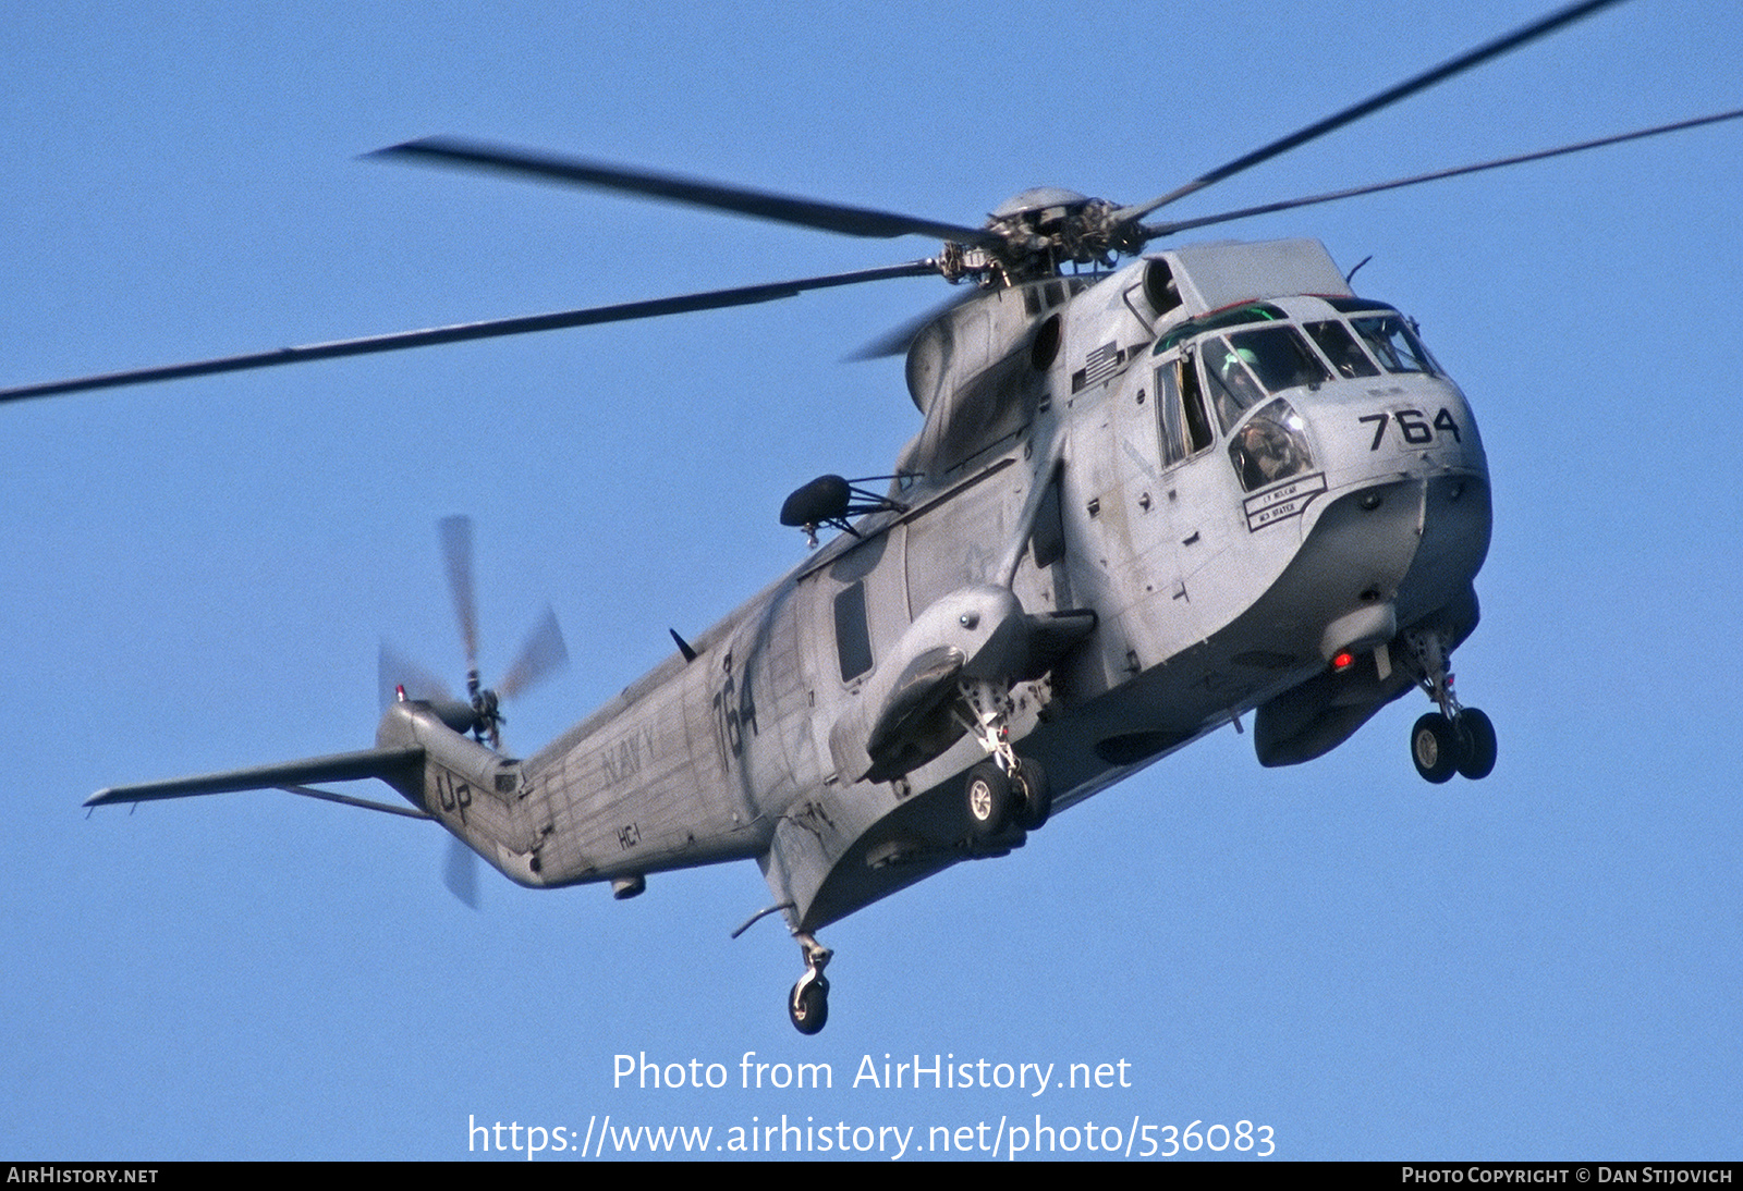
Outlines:
{"type": "MultiPolygon", "coordinates": [[[[359,162],[457,132],[974,223],[1138,202],[1537,16],[1536,3],[24,3],[0,47],[0,381],[926,256],[359,162]]],[[[1232,179],[1180,216],[1740,103],[1743,16],[1637,0],[1232,179]]],[[[1738,1158],[1743,752],[1729,458],[1743,129],[1253,219],[1414,313],[1469,395],[1495,540],[1455,658],[1483,784],[1405,700],[1269,771],[1220,733],[823,933],[831,1022],[753,865],[615,904],[441,886],[427,824],[94,789],[364,747],[376,641],[460,677],[436,550],[478,524],[485,669],[546,601],[530,750],[802,557],[776,521],[917,428],[838,359],[901,280],[518,341],[0,409],[0,1154],[458,1158],[467,1121],[1028,1121],[1286,1158],[1738,1158]],[[614,1088],[615,1055],[720,1062],[614,1088]],[[828,1092],[739,1062],[828,1062],[828,1092]],[[1129,1088],[877,1092],[875,1062],[1128,1062],[1129,1088]],[[1204,1127],[1201,1125],[1201,1128],[1204,1127]]],[[[1232,1153],[1232,1151],[1231,1151],[1232,1153]]],[[[1079,1151],[1077,1156],[1089,1156],[1079,1151]]]]}

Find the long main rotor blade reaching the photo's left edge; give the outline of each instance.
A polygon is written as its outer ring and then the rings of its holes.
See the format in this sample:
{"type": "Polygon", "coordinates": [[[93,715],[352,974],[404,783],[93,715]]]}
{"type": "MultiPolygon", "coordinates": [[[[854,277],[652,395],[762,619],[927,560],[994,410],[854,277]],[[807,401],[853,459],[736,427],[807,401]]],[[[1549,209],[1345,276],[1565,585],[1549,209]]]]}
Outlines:
{"type": "Polygon", "coordinates": [[[61,394],[82,394],[96,388],[117,388],[122,385],[146,385],[152,381],[183,380],[188,376],[213,376],[218,373],[241,373],[253,367],[277,367],[281,364],[305,364],[309,360],[331,360],[345,355],[371,355],[375,352],[399,352],[404,348],[434,347],[437,343],[465,343],[469,340],[493,340],[505,334],[528,334],[532,331],[560,331],[565,327],[591,327],[601,322],[629,322],[633,319],[659,319],[673,313],[690,313],[694,310],[722,310],[725,306],[751,306],[760,301],[795,298],[810,289],[833,289],[837,286],[858,286],[859,282],[889,280],[892,277],[933,277],[938,273],[938,261],[910,261],[906,265],[885,265],[882,268],[863,268],[852,273],[828,273],[823,277],[800,277],[788,282],[770,282],[767,286],[743,286],[739,289],[713,289],[699,294],[682,294],[676,298],[655,298],[652,301],[626,301],[615,306],[587,306],[582,310],[560,310],[542,315],[521,315],[516,319],[492,319],[486,322],[462,322],[450,327],[431,327],[425,331],[397,331],[394,334],[376,334],[361,340],[336,340],[333,343],[310,343],[305,347],[275,348],[272,352],[253,352],[249,355],[227,355],[213,360],[195,360],[192,364],[167,364],[160,367],[136,367],[125,373],[105,373],[101,376],[78,376],[64,381],[47,381],[42,385],[21,385],[0,388],[0,402],[24,400],[28,397],[56,397],[61,394]]]}

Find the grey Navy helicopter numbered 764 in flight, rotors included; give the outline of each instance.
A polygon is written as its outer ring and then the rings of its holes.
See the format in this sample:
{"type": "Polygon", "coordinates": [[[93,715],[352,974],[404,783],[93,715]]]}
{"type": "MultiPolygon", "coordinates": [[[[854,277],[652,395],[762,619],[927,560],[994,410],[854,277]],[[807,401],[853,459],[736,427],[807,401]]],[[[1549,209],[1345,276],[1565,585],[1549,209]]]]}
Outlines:
{"type": "MultiPolygon", "coordinates": [[[[959,299],[870,348],[906,352],[924,425],[885,488],[824,475],[781,517],[793,571],[528,757],[498,698],[565,658],[554,620],[497,690],[478,676],[471,528],[443,522],[471,674],[453,698],[383,649],[373,749],[106,789],[89,804],[289,789],[437,820],[526,886],[755,860],[798,940],[802,1033],[828,1017],[816,932],[973,857],[1251,712],[1258,761],[1335,749],[1412,688],[1424,778],[1495,764],[1454,693],[1490,538],[1476,421],[1415,324],[1351,289],[1314,240],[1157,239],[1288,207],[1731,120],[1180,223],[1161,207],[1616,0],[1558,10],[1140,205],[1030,190],[985,226],[790,198],[453,139],[382,155],[502,171],[861,237],[938,256],[619,306],[502,319],[12,388],[131,385],[943,275],[959,299]],[[1121,258],[1131,258],[1121,263],[1121,258]],[[406,806],[315,789],[378,778],[406,806]]],[[[760,918],[758,914],[756,918],[760,918]]],[[[751,919],[755,921],[755,918],[751,919]]],[[[748,925],[748,923],[746,923],[748,925]]]]}

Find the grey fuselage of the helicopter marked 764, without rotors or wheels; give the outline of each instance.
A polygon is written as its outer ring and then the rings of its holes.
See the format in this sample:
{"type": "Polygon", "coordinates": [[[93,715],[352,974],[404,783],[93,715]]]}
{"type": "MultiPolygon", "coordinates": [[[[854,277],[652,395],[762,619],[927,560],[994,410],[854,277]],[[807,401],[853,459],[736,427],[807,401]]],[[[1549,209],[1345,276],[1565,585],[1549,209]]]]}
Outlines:
{"type": "Polygon", "coordinates": [[[432,750],[425,806],[525,885],[755,858],[809,932],[976,853],[983,742],[938,710],[877,754],[917,665],[973,655],[939,609],[1009,592],[1093,625],[1007,667],[1009,738],[1056,806],[1250,710],[1262,763],[1319,756],[1414,684],[1401,634],[1476,623],[1471,411],[1311,240],[988,293],[919,336],[908,381],[926,423],[892,508],[539,754],[457,752],[467,806],[432,750]]]}

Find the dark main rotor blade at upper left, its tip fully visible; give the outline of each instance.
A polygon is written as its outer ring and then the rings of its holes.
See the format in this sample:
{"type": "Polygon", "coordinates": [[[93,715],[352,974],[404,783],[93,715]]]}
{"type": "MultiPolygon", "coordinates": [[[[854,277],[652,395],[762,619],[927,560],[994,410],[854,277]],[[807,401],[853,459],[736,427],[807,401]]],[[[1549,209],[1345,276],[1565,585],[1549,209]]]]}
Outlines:
{"type": "Polygon", "coordinates": [[[709,211],[729,211],[753,219],[772,219],[774,223],[797,223],[804,228],[821,232],[838,232],[840,235],[861,235],[891,239],[898,235],[931,235],[939,240],[959,240],[992,247],[999,240],[983,228],[966,228],[955,223],[939,223],[892,211],[872,211],[868,207],[849,207],[837,202],[816,198],[797,198],[791,195],[774,195],[748,186],[730,186],[727,183],[702,181],[699,178],[680,178],[627,165],[612,165],[580,157],[558,157],[535,150],[511,148],[505,145],[485,145],[464,141],[451,136],[429,136],[404,145],[392,145],[368,157],[408,158],[436,162],[444,165],[464,165],[495,174],[512,174],[518,178],[537,178],[542,181],[570,183],[610,190],[617,193],[640,195],[643,198],[662,198],[682,202],[709,211]]]}

